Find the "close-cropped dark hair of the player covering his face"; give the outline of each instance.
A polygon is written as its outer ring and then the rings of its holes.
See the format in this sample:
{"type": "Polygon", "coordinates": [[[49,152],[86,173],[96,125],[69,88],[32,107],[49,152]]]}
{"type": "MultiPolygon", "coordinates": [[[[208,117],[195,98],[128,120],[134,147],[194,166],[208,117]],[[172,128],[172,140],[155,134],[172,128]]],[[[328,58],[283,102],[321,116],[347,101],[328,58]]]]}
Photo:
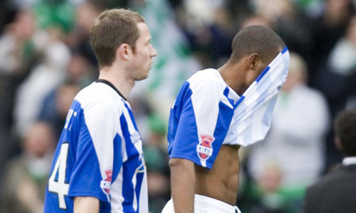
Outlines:
{"type": "Polygon", "coordinates": [[[242,28],[234,37],[230,62],[235,63],[244,56],[257,53],[263,63],[268,63],[284,47],[282,38],[273,30],[261,25],[251,25],[242,28]]]}

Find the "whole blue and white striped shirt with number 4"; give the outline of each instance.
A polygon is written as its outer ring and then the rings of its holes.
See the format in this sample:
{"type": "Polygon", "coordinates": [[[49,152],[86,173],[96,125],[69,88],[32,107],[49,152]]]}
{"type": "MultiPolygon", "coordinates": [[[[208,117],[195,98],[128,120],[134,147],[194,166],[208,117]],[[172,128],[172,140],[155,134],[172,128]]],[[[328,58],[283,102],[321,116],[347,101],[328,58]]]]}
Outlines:
{"type": "Polygon", "coordinates": [[[73,212],[95,197],[99,212],[148,212],[142,141],[130,104],[98,80],[75,97],[56,148],[44,212],[73,212]]]}

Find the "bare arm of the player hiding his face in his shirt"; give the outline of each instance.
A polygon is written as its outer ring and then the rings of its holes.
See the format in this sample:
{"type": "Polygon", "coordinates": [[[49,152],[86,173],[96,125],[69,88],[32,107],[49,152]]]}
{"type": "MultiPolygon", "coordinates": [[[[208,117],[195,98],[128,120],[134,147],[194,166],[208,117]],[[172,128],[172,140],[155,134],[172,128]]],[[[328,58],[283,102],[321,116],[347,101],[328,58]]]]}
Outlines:
{"type": "Polygon", "coordinates": [[[175,213],[194,212],[195,171],[194,163],[187,159],[172,158],[171,194],[175,213]]]}

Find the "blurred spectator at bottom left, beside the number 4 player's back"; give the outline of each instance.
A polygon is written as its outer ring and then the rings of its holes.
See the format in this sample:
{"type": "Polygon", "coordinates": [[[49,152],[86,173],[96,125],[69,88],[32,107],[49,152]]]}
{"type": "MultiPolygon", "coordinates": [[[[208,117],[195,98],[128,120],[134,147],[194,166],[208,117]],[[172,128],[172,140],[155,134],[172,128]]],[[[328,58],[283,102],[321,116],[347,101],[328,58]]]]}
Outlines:
{"type": "Polygon", "coordinates": [[[28,129],[22,142],[23,153],[6,166],[1,212],[42,212],[55,143],[51,125],[36,122],[28,129]]]}

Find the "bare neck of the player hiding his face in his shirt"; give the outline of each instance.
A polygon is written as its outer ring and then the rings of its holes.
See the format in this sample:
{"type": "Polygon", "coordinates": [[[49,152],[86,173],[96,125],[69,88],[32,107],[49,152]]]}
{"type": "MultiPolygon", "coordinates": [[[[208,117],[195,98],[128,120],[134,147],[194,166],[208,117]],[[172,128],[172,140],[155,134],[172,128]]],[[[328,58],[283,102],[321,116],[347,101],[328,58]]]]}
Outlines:
{"type": "Polygon", "coordinates": [[[245,76],[246,72],[241,68],[238,63],[226,63],[218,69],[220,75],[226,82],[226,85],[231,87],[239,96],[246,90],[245,76]]]}

